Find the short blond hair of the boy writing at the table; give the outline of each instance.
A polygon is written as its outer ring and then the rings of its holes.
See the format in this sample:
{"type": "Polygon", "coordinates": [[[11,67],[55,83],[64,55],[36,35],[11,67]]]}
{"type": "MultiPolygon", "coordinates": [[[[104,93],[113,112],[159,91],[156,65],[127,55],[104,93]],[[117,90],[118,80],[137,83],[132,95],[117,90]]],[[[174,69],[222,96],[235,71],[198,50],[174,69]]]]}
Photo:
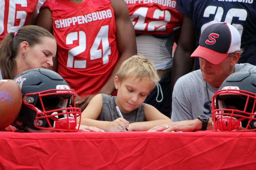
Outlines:
{"type": "Polygon", "coordinates": [[[122,82],[125,78],[131,75],[137,75],[137,78],[149,78],[154,87],[160,80],[154,64],[143,55],[133,55],[125,60],[117,71],[118,80],[122,82]]]}

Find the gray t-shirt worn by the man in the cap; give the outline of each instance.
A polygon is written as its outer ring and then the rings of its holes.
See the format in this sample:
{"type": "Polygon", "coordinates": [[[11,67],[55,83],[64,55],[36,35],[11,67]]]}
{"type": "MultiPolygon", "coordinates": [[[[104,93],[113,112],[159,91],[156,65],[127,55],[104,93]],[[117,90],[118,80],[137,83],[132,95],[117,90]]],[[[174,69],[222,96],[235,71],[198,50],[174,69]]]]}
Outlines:
{"type": "MultiPolygon", "coordinates": [[[[256,66],[243,63],[236,64],[234,72],[237,71],[254,71],[256,66]]],[[[201,70],[190,72],[180,77],[173,88],[172,92],[172,116],[174,122],[182,120],[193,120],[200,115],[211,117],[212,95],[218,90],[207,83],[202,78],[201,70]],[[207,95],[207,91],[209,95],[207,95]],[[209,96],[209,100],[208,100],[209,96]]]]}

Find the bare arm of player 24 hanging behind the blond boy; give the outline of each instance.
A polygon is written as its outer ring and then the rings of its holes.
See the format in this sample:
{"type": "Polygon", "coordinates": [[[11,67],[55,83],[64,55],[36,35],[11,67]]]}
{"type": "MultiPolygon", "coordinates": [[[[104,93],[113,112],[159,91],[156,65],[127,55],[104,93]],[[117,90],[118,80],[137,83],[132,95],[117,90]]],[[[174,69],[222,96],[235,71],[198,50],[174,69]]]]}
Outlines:
{"type": "MultiPolygon", "coordinates": [[[[116,42],[120,58],[117,61],[108,81],[98,92],[98,94],[103,93],[108,95],[112,94],[115,91],[114,77],[122,62],[137,53],[135,31],[126,3],[120,0],[111,0],[111,5],[115,14],[116,42]]],[[[85,96],[84,98],[77,100],[77,106],[80,107],[81,110],[84,110],[92,97],[95,95],[96,94],[85,96]]]]}

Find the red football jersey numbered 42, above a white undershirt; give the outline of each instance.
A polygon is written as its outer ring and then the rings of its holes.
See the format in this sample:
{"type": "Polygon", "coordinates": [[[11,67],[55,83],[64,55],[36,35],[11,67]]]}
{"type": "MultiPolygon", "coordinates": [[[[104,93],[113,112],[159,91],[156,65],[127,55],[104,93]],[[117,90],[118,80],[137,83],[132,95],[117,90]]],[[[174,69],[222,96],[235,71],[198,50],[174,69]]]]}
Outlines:
{"type": "Polygon", "coordinates": [[[176,0],[124,0],[136,33],[170,34],[182,24],[176,0]]]}

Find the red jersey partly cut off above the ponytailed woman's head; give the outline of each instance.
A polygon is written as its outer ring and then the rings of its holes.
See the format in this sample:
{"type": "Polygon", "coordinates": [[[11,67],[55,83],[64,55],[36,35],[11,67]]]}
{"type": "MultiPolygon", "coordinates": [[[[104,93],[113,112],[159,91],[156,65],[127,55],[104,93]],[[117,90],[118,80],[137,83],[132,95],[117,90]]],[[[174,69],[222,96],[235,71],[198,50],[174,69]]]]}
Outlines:
{"type": "Polygon", "coordinates": [[[17,32],[27,24],[29,17],[36,7],[35,0],[4,0],[0,4],[0,41],[5,34],[17,32]],[[3,4],[2,4],[3,3],[3,4]]]}

